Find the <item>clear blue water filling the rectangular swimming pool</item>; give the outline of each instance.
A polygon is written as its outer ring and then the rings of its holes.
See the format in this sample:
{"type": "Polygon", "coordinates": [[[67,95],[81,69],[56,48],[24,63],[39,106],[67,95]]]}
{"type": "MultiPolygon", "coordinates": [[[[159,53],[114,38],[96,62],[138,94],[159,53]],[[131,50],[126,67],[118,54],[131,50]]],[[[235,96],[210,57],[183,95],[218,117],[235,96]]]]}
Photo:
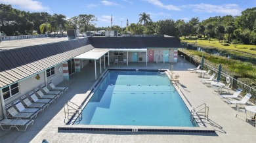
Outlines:
{"type": "Polygon", "coordinates": [[[85,125],[194,127],[169,78],[151,71],[110,71],[83,109],[85,125]]]}

